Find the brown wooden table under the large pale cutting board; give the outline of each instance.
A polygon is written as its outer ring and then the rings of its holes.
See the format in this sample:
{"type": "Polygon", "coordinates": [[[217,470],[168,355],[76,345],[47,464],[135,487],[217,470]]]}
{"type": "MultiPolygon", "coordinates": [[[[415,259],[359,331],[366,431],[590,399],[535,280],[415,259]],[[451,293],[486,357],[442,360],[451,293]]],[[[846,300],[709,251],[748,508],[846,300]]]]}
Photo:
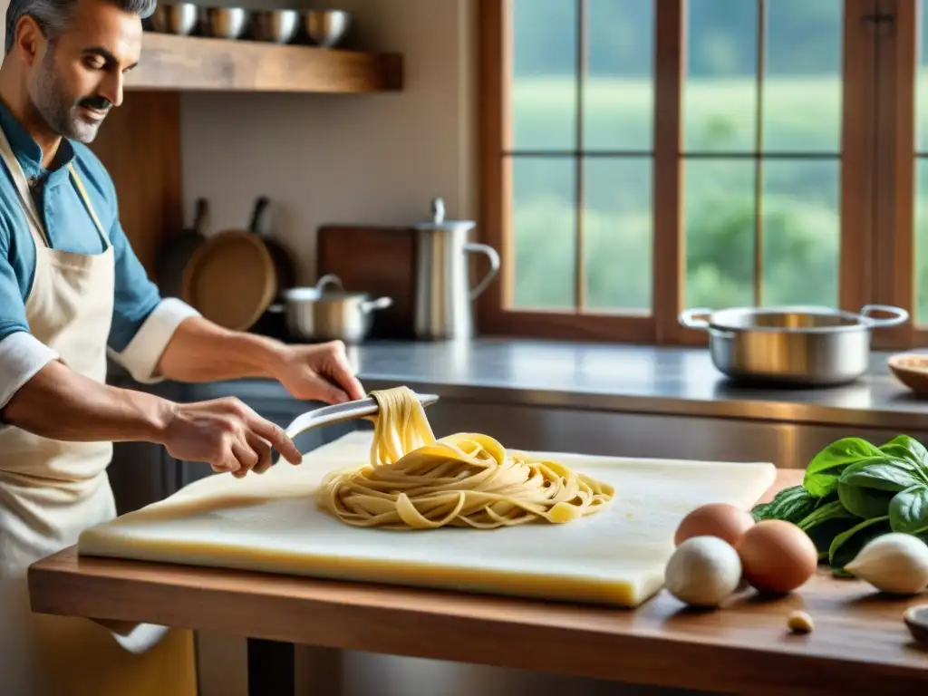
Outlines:
{"type": "MultiPolygon", "coordinates": [[[[801,475],[780,471],[767,497],[801,475]]],[[[292,693],[293,644],[736,693],[928,689],[928,645],[902,621],[928,594],[886,599],[824,572],[787,597],[747,590],[712,612],[664,591],[631,611],[79,559],[75,548],[33,564],[29,584],[35,612],[249,637],[253,694],[292,693]],[[815,631],[789,634],[793,609],[809,612],[815,631]]]]}

